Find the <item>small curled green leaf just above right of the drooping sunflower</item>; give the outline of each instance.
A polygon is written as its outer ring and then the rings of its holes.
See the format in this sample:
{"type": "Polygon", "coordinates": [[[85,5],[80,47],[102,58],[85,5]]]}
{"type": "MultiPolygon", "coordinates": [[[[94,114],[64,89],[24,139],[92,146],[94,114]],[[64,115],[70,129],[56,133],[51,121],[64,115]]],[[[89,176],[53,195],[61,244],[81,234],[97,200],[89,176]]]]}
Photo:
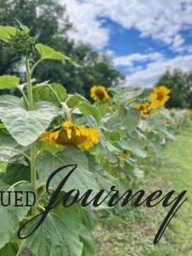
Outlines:
{"type": "Polygon", "coordinates": [[[79,110],[81,113],[83,113],[84,115],[91,115],[96,119],[96,122],[99,124],[101,121],[101,114],[99,112],[99,110],[90,105],[88,102],[81,102],[79,104],[79,110]]]}

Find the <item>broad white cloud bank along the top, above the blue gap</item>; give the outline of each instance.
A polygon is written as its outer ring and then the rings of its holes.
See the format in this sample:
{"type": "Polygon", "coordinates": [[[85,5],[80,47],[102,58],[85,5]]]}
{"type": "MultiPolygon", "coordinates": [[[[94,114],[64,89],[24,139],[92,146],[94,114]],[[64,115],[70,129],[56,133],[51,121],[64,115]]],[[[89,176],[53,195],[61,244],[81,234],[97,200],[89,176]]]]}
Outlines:
{"type": "Polygon", "coordinates": [[[99,49],[108,45],[109,28],[103,27],[106,18],[125,29],[135,28],[141,37],[152,37],[172,49],[182,49],[180,32],[192,26],[192,0],[60,0],[77,32],[71,36],[99,49]]]}

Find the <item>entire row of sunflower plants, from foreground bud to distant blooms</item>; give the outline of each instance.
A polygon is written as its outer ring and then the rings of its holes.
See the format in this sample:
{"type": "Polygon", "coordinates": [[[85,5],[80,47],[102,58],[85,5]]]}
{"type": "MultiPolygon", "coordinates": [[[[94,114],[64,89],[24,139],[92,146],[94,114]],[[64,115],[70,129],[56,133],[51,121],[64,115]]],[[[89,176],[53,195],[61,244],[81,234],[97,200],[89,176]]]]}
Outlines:
{"type": "MultiPolygon", "coordinates": [[[[50,195],[68,171],[48,177],[61,166],[77,169],[61,188],[58,196],[79,189],[79,196],[91,189],[93,198],[101,189],[108,193],[112,185],[119,191],[137,189],[145,177],[144,165],[159,161],[167,141],[191,119],[190,112],[167,110],[169,90],[154,88],[143,98],[143,90],[94,85],[91,101],[79,94],[69,95],[62,84],[36,83],[33,71],[42,61],[69,61],[70,57],[30,36],[20,24],[0,26],[0,39],[11,44],[25,68],[26,82],[20,78],[0,77],[0,188],[1,191],[32,190],[37,201],[32,207],[0,207],[0,255],[91,256],[95,255],[91,232],[96,212],[116,214],[119,207],[107,204],[83,207],[77,201],[71,207],[58,203],[31,236],[30,230],[47,207],[50,195]],[[18,91],[19,96],[9,94],[18,91]],[[20,236],[20,227],[33,218],[20,236]]],[[[65,72],[65,71],[63,71],[65,72]]],[[[104,191],[102,191],[104,193],[104,191]]],[[[3,195],[3,194],[1,194],[3,195]]],[[[4,202],[9,201],[9,193],[4,202]]],[[[104,195],[104,194],[103,194],[104,195]]],[[[74,201],[74,194],[69,201],[74,201]]]]}

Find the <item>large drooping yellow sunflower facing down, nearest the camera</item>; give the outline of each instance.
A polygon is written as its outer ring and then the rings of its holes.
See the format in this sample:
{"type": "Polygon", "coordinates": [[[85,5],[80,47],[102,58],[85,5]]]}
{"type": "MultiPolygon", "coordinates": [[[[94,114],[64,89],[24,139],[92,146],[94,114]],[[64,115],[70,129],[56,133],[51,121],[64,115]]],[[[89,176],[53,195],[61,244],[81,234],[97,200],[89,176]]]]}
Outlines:
{"type": "Polygon", "coordinates": [[[74,125],[72,121],[64,122],[59,131],[45,131],[40,137],[41,141],[49,145],[66,147],[73,144],[78,148],[91,148],[99,141],[99,131],[94,128],[85,128],[74,125]]]}

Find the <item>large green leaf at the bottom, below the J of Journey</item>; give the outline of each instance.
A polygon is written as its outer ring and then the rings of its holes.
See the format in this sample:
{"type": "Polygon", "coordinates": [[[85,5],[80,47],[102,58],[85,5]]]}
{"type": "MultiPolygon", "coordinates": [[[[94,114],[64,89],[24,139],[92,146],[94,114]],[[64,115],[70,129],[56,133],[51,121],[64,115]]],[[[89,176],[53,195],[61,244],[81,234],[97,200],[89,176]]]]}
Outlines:
{"type": "MultiPolygon", "coordinates": [[[[79,207],[56,207],[44,220],[44,223],[32,236],[26,238],[25,246],[35,256],[81,256],[83,243],[79,240],[80,233],[79,207]]],[[[24,231],[30,232],[37,219],[26,226],[24,231]]]]}

